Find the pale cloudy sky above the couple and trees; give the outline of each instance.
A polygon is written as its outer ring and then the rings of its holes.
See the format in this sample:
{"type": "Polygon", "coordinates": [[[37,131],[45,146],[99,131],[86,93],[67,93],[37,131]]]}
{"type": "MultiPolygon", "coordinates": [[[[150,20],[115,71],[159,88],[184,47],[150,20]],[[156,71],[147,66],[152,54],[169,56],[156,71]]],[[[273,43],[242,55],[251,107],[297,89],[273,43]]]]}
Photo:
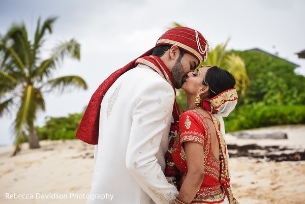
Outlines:
{"type": "MultiPolygon", "coordinates": [[[[82,112],[104,79],[154,47],[173,22],[199,31],[211,48],[230,38],[228,49],[278,53],[305,75],[305,59],[296,54],[305,50],[304,11],[302,0],[0,0],[0,34],[23,21],[33,39],[39,17],[58,16],[42,54],[72,38],[81,44],[80,61],[66,57],[53,76],[81,76],[88,89],[44,95],[46,111],[36,121],[42,126],[46,116],[82,112]]],[[[13,143],[15,113],[0,118],[0,145],[13,143]]]]}

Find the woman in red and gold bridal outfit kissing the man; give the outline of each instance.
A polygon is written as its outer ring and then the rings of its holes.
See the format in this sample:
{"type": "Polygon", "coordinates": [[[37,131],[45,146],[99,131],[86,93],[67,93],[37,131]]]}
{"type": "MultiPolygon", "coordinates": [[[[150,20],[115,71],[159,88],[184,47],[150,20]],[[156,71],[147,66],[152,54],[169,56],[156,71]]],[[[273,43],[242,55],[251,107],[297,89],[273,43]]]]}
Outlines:
{"type": "Polygon", "coordinates": [[[175,203],[238,203],[233,197],[224,122],[237,103],[235,79],[217,66],[190,72],[182,89],[188,110],[180,115],[172,158],[180,171],[175,203]]]}

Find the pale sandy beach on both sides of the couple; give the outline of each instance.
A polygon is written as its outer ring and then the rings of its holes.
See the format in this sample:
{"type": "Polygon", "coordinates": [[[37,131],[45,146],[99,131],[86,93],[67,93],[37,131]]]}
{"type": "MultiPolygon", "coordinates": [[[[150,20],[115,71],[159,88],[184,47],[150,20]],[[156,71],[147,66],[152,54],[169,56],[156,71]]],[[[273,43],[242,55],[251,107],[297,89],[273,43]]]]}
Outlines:
{"type": "MultiPolygon", "coordinates": [[[[305,125],[247,130],[249,133],[285,132],[287,139],[241,139],[226,135],[230,145],[256,144],[252,155],[292,155],[276,161],[269,157],[238,156],[230,150],[233,193],[240,203],[305,203],[305,125]],[[272,147],[270,151],[264,147],[272,147]],[[264,152],[266,151],[266,152],[264,152]],[[295,154],[297,153],[297,154],[295,154]],[[289,158],[295,158],[291,161],[289,158]]],[[[94,170],[94,146],[80,140],[40,141],[41,148],[11,157],[14,148],[0,148],[0,203],[86,203],[94,170]]],[[[229,153],[230,153],[229,151],[229,153]]],[[[272,157],[272,158],[273,158],[272,157]]],[[[284,158],[283,156],[281,158],[284,158]]],[[[99,199],[111,203],[105,192],[99,199]]],[[[89,198],[90,199],[90,198],[89,198]]]]}

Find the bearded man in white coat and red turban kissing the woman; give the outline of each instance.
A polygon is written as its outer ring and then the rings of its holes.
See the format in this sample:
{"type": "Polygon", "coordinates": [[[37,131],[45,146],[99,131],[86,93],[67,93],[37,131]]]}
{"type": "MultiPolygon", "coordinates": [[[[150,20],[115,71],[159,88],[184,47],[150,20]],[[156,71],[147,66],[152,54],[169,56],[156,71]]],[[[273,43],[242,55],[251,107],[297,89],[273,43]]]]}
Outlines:
{"type": "Polygon", "coordinates": [[[76,137],[96,144],[88,204],[173,203],[164,176],[175,88],[207,55],[207,41],[188,27],[165,32],[154,48],[111,74],[93,94],[76,137]],[[98,195],[110,194],[108,200],[98,195]]]}

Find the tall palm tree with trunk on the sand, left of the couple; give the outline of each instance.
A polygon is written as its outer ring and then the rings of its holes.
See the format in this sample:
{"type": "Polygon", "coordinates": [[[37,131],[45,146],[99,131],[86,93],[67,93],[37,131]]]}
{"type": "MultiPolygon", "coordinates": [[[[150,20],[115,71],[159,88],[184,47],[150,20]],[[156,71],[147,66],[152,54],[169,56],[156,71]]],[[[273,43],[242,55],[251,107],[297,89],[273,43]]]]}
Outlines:
{"type": "Polygon", "coordinates": [[[28,39],[24,22],[13,24],[5,36],[0,35],[0,116],[17,110],[12,124],[13,155],[20,151],[21,138],[27,134],[29,148],[40,148],[34,122],[37,112],[45,110],[44,94],[63,93],[72,87],[87,89],[79,76],[51,78],[65,56],[80,59],[80,44],[75,39],[58,44],[49,57],[42,59],[44,36],[47,31],[52,33],[56,19],[49,17],[41,25],[39,18],[33,42],[28,39]]]}

